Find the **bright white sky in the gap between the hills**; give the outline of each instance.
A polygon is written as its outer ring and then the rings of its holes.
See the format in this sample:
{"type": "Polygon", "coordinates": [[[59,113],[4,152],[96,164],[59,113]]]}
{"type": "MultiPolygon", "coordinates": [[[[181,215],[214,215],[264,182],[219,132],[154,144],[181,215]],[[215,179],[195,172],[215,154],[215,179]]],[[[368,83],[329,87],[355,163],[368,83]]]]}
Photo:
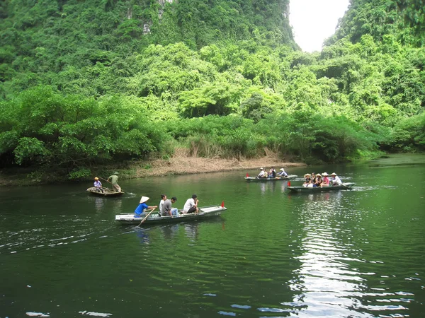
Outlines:
{"type": "Polygon", "coordinates": [[[322,51],[323,41],[335,33],[349,0],[290,0],[290,25],[295,42],[305,52],[322,51]]]}

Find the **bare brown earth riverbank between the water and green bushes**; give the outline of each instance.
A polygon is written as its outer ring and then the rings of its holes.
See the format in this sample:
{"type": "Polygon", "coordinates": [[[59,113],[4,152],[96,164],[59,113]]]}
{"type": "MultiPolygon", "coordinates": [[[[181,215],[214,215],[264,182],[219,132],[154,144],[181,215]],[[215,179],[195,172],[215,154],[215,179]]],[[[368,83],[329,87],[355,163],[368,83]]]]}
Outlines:
{"type": "MultiPolygon", "coordinates": [[[[222,158],[197,158],[177,155],[168,160],[140,160],[119,163],[117,165],[98,165],[90,167],[91,175],[78,181],[89,181],[94,176],[108,177],[115,170],[119,172],[120,179],[134,179],[144,177],[161,177],[166,175],[188,175],[193,173],[211,173],[234,170],[269,169],[276,170],[288,167],[303,167],[305,163],[285,162],[272,154],[256,159],[222,159],[222,158]]],[[[0,171],[0,186],[36,185],[48,183],[72,182],[61,171],[33,171],[28,168],[13,168],[0,171]]]]}

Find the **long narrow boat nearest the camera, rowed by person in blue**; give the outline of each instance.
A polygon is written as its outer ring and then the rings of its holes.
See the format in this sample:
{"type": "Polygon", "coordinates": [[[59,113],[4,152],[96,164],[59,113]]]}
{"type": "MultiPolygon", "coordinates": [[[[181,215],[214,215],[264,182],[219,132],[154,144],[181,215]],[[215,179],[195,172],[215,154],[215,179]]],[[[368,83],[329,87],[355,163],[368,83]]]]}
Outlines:
{"type": "MultiPolygon", "coordinates": [[[[199,208],[198,213],[181,214],[180,216],[159,216],[159,213],[152,213],[142,225],[158,224],[158,223],[179,223],[188,222],[191,220],[203,220],[212,216],[220,216],[222,211],[226,211],[224,206],[205,206],[199,208]]],[[[141,218],[135,218],[135,213],[119,214],[115,216],[115,220],[123,225],[139,225],[145,218],[144,214],[141,218]]]]}

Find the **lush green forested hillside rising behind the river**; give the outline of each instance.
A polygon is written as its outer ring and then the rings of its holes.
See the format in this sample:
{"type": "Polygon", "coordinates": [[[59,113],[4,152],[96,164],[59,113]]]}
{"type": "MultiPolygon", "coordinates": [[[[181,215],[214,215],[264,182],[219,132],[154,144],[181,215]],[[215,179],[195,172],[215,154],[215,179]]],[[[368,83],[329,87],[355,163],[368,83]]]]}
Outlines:
{"type": "Polygon", "coordinates": [[[418,1],[352,0],[313,54],[288,0],[6,0],[0,17],[3,167],[425,149],[418,1]]]}

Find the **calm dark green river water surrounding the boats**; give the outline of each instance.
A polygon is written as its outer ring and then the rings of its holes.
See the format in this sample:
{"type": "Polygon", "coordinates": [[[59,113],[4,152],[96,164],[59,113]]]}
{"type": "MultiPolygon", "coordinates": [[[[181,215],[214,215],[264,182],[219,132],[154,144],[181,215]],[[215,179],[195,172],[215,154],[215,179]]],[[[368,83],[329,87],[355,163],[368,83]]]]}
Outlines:
{"type": "Polygon", "coordinates": [[[424,155],[397,155],[287,169],[356,182],[319,194],[248,183],[246,171],[128,180],[120,198],[81,193],[91,184],[4,187],[0,318],[425,317],[424,167],[424,155]],[[115,224],[161,193],[227,211],[115,224]]]}

